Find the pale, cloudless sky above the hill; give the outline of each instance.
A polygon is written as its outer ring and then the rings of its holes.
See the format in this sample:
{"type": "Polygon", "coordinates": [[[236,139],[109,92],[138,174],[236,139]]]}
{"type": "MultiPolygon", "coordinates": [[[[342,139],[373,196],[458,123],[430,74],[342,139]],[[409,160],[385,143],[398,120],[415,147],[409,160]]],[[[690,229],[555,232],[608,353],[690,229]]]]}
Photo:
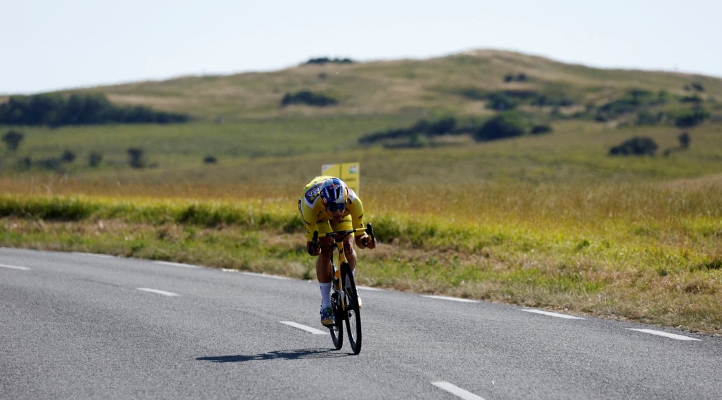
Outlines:
{"type": "Polygon", "coordinates": [[[494,48],[722,78],[716,0],[0,0],[0,94],[494,48]]]}

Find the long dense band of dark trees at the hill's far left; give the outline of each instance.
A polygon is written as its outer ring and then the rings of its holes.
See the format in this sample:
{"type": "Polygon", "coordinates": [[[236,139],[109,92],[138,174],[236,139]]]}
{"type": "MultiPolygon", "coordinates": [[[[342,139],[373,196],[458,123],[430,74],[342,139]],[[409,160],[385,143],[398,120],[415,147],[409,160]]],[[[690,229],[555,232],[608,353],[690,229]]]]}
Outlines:
{"type": "Polygon", "coordinates": [[[11,96],[0,104],[0,124],[89,125],[102,123],[182,123],[187,114],[156,111],[144,105],[118,106],[103,93],[11,96]]]}

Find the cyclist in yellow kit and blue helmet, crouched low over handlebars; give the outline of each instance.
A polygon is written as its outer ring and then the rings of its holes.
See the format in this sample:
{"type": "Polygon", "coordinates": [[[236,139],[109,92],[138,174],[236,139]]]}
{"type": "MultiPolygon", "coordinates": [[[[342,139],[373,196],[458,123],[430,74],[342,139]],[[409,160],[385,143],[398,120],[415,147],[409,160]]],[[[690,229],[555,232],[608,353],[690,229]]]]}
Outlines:
{"type": "MultiPolygon", "coordinates": [[[[333,176],[317,176],[303,188],[301,198],[298,199],[298,210],[306,228],[306,250],[310,256],[318,256],[316,279],[321,289],[321,323],[333,325],[331,280],[334,274],[331,258],[334,256],[334,239],[319,238],[318,245],[314,246],[313,232],[328,233],[365,227],[363,205],[359,196],[344,181],[333,176]]],[[[355,240],[352,240],[352,235],[344,238],[344,255],[352,271],[356,268],[356,251],[352,242],[355,241],[359,248],[376,247],[376,240],[370,240],[366,232],[356,232],[353,238],[355,240]]]]}

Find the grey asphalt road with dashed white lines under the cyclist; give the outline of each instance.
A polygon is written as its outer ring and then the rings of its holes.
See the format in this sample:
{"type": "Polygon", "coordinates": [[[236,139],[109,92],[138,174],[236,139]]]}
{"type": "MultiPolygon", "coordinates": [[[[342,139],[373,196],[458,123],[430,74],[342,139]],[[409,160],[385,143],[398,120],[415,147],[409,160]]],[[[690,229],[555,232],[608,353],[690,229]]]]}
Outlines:
{"type": "Polygon", "coordinates": [[[721,338],[360,294],[351,355],[316,282],[0,248],[0,399],[722,399],[721,338]]]}

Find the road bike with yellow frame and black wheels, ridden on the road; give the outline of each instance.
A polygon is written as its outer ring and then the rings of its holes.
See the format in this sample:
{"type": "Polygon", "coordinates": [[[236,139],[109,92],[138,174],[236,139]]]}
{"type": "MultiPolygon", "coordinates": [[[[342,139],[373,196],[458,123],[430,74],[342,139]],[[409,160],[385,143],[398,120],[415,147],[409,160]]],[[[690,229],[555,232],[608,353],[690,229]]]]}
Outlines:
{"type": "Polygon", "coordinates": [[[329,326],[331,331],[331,340],[334,342],[336,350],[341,349],[344,345],[344,321],[346,322],[346,331],[349,335],[348,341],[354,354],[361,352],[361,313],[358,302],[358,292],[356,291],[356,283],[354,282],[354,274],[351,266],[344,254],[344,238],[356,232],[366,232],[370,240],[375,240],[373,235],[373,227],[367,224],[365,228],[360,227],[352,230],[340,230],[338,232],[313,233],[313,244],[318,245],[318,238],[334,238],[336,248],[339,251],[338,265],[334,263],[331,257],[331,266],[334,269],[333,287],[331,292],[331,309],[334,312],[336,323],[329,326]]]}

